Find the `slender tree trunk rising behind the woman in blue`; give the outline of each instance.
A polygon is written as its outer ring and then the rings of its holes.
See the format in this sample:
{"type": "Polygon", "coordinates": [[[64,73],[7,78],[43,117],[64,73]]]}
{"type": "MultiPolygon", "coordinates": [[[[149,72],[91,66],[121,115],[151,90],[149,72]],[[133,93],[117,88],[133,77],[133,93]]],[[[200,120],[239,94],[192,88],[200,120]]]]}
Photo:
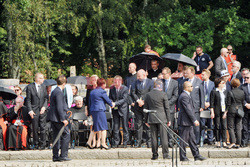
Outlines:
{"type": "Polygon", "coordinates": [[[98,6],[98,16],[99,19],[96,20],[96,29],[97,29],[97,40],[98,40],[98,55],[99,55],[99,61],[100,61],[100,68],[101,68],[101,73],[103,78],[108,77],[107,73],[107,62],[106,62],[106,57],[105,57],[105,48],[104,48],[104,41],[103,41],[103,34],[102,34],[102,16],[101,16],[101,9],[102,4],[101,2],[99,3],[98,6]]]}

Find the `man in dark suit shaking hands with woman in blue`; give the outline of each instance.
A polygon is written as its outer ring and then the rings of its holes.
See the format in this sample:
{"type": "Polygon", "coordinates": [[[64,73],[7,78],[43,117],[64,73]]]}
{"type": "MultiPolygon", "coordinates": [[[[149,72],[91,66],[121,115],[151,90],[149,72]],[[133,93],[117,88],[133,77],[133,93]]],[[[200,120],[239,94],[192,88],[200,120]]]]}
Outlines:
{"type": "Polygon", "coordinates": [[[109,98],[115,103],[115,108],[112,109],[113,115],[113,148],[116,148],[120,142],[120,120],[122,122],[123,131],[123,146],[126,148],[128,134],[128,88],[122,85],[122,77],[117,75],[114,77],[114,85],[110,87],[109,98]]]}

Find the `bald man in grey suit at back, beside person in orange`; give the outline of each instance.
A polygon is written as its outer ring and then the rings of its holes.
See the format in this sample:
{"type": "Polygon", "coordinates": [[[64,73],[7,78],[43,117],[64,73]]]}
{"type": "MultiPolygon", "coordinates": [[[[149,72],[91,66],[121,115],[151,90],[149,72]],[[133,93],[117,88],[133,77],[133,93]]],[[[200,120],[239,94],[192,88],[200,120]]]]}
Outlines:
{"type": "Polygon", "coordinates": [[[220,77],[221,71],[223,71],[223,70],[228,71],[227,62],[225,60],[225,58],[228,55],[227,52],[228,52],[227,48],[222,48],[220,50],[221,55],[215,60],[215,75],[216,75],[216,77],[220,77]]]}

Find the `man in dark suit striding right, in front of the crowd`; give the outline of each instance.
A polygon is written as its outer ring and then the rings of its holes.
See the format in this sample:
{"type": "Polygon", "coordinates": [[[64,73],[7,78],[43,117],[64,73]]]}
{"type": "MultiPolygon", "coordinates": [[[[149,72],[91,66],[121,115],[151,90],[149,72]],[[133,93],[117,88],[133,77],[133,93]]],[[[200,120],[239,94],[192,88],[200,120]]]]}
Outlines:
{"type": "MultiPolygon", "coordinates": [[[[196,139],[194,135],[194,125],[199,126],[199,121],[196,118],[194,104],[191,97],[191,92],[193,91],[192,83],[189,81],[184,82],[183,84],[184,91],[181,93],[178,103],[180,107],[178,125],[179,125],[179,135],[180,137],[189,144],[189,147],[194,156],[194,160],[205,160],[206,158],[202,157],[199,154],[199,149],[196,146],[196,139]]],[[[180,146],[186,152],[186,145],[182,140],[180,140],[180,146]]],[[[189,161],[186,157],[186,153],[180,148],[180,160],[189,161]]]]}

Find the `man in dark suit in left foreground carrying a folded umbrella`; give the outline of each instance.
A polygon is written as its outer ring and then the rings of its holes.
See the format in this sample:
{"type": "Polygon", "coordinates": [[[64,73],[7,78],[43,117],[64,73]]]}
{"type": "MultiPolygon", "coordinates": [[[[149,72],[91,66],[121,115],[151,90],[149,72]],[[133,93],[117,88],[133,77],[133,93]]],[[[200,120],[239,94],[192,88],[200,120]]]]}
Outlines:
{"type": "Polygon", "coordinates": [[[53,140],[56,139],[59,131],[63,126],[65,129],[61,138],[53,147],[53,161],[70,161],[68,158],[68,147],[70,142],[70,130],[67,126],[69,118],[67,117],[68,106],[63,96],[63,89],[66,85],[66,77],[61,75],[57,78],[57,87],[53,90],[50,97],[50,109],[48,112],[48,121],[51,121],[53,131],[53,140]],[[59,149],[61,155],[59,156],[59,149]]]}

